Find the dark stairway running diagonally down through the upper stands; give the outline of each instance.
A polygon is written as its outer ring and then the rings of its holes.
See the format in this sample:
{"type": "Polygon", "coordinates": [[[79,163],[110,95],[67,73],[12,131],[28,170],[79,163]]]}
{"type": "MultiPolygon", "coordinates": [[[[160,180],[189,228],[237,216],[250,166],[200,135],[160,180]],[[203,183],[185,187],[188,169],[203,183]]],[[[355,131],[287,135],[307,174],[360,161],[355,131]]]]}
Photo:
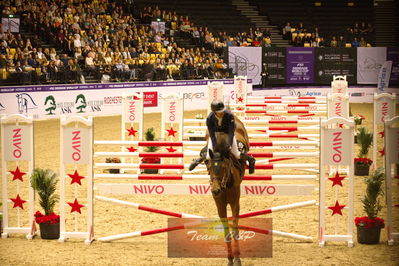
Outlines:
{"type": "Polygon", "coordinates": [[[268,28],[270,29],[272,45],[276,47],[288,47],[289,42],[287,40],[283,40],[283,36],[280,33],[280,30],[277,26],[270,25],[269,20],[266,16],[262,16],[259,14],[257,7],[252,6],[245,0],[233,0],[232,4],[236,7],[238,11],[244,16],[246,16],[255,27],[259,27],[261,29],[268,28]]]}

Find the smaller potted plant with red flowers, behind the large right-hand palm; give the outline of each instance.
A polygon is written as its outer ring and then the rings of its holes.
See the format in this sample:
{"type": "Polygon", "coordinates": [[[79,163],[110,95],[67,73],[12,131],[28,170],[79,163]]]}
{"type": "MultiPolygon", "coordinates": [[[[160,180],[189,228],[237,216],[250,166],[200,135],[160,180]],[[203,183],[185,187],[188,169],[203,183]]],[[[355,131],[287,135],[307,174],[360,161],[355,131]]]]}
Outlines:
{"type": "Polygon", "coordinates": [[[360,145],[358,157],[355,158],[355,175],[367,176],[369,174],[372,160],[367,158],[367,154],[373,143],[373,133],[369,132],[367,128],[361,127],[358,130],[357,141],[360,145]]]}

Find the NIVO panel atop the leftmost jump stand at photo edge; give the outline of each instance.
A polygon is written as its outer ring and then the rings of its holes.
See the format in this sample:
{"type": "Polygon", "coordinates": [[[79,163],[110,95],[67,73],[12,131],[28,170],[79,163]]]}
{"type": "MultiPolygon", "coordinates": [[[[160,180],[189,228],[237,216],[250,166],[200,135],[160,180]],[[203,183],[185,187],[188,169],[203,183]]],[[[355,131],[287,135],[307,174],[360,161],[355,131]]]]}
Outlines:
{"type": "Polygon", "coordinates": [[[4,157],[6,161],[29,161],[32,143],[30,126],[4,126],[4,157]]]}

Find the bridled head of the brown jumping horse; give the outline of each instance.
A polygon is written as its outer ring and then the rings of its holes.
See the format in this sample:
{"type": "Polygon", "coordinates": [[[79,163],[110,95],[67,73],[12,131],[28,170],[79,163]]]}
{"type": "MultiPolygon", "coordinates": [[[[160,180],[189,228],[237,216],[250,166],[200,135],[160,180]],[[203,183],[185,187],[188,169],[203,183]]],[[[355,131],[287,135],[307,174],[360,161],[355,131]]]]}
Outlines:
{"type": "Polygon", "coordinates": [[[212,150],[209,150],[209,158],[207,167],[211,177],[211,192],[216,197],[227,187],[227,183],[231,182],[230,152],[225,150],[212,152],[212,150]]]}

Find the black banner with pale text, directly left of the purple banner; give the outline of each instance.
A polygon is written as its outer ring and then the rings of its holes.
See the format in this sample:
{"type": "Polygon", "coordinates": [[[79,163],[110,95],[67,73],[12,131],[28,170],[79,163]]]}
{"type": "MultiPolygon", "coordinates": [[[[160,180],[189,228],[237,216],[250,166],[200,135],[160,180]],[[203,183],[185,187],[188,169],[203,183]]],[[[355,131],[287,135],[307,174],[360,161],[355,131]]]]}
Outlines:
{"type": "Polygon", "coordinates": [[[269,74],[267,84],[285,84],[286,48],[263,48],[263,64],[269,74]]]}

